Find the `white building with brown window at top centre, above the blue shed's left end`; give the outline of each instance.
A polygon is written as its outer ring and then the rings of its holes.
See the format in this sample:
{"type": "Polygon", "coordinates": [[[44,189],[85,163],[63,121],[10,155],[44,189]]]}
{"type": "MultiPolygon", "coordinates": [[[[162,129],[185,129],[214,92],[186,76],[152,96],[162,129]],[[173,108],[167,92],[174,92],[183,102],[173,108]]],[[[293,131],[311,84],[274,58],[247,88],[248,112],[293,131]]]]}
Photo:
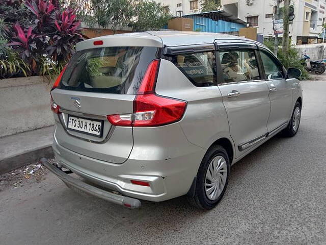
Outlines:
{"type": "Polygon", "coordinates": [[[193,14],[200,11],[200,0],[155,0],[173,16],[193,14]]]}

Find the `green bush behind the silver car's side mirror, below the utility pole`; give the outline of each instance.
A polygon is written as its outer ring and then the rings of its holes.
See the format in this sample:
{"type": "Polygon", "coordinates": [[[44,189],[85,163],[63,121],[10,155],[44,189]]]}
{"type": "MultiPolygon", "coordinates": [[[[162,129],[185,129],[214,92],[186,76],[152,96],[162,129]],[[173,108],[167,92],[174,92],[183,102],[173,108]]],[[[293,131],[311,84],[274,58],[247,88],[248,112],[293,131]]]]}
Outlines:
{"type": "MultiPolygon", "coordinates": [[[[264,45],[269,48],[271,52],[274,52],[274,41],[271,39],[267,39],[264,41],[264,45]]],[[[286,55],[282,52],[278,52],[278,58],[282,62],[285,68],[293,67],[300,69],[302,71],[301,79],[309,79],[309,74],[305,67],[302,65],[300,61],[300,56],[297,52],[297,50],[293,47],[293,45],[289,46],[289,53],[288,53],[288,59],[286,58],[286,55]]]]}

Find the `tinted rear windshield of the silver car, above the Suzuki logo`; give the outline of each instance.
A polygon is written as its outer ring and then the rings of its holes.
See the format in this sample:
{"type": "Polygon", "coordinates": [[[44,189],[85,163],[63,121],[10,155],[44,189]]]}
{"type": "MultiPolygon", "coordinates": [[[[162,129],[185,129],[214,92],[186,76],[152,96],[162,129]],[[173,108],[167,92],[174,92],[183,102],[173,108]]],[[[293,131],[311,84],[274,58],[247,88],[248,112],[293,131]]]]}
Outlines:
{"type": "Polygon", "coordinates": [[[102,93],[136,94],[156,47],[101,47],[77,52],[58,88],[102,93]]]}

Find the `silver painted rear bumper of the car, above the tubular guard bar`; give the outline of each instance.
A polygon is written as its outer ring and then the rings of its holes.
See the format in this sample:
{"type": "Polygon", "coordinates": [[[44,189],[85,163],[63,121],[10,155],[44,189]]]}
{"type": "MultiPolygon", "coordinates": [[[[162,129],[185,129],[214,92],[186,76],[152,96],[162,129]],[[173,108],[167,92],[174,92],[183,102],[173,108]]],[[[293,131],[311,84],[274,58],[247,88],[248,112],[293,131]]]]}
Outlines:
{"type": "Polygon", "coordinates": [[[128,197],[153,202],[186,194],[205,154],[204,149],[188,145],[191,152],[187,154],[146,159],[149,154],[144,154],[144,148],[139,151],[134,148],[127,161],[115,164],[66,149],[56,141],[56,137],[52,148],[58,163],[78,176],[128,197]],[[131,180],[149,182],[150,186],[135,185],[131,180]]]}

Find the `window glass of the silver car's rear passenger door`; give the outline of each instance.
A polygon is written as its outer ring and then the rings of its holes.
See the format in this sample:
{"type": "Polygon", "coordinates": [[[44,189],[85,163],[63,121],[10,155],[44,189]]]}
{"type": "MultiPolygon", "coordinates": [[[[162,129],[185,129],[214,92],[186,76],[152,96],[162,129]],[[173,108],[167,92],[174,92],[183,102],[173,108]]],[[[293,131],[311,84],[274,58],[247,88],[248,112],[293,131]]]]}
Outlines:
{"type": "Polygon", "coordinates": [[[254,50],[220,51],[224,83],[260,80],[254,50]]]}

